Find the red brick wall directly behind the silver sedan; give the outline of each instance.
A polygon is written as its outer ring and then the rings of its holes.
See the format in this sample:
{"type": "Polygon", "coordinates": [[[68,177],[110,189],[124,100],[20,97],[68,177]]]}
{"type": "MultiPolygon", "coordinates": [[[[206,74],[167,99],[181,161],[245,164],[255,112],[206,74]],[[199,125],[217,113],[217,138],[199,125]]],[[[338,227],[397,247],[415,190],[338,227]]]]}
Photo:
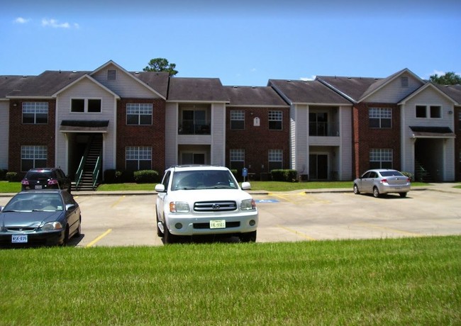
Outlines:
{"type": "Polygon", "coordinates": [[[360,176],[370,169],[370,149],[392,149],[392,166],[401,169],[400,157],[400,108],[391,103],[357,103],[352,112],[354,135],[353,135],[353,166],[355,176],[360,176]],[[368,109],[391,108],[392,128],[370,128],[368,109]]]}

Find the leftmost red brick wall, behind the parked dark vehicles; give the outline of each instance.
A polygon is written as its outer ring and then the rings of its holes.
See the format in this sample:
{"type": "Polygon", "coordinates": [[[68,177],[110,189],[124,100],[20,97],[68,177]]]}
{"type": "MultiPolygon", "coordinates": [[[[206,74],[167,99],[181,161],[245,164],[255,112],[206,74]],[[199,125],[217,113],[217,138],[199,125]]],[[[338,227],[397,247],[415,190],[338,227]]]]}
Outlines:
{"type": "Polygon", "coordinates": [[[9,124],[9,172],[21,173],[21,146],[40,145],[47,147],[47,165],[55,165],[55,111],[56,101],[27,99],[10,101],[9,124]],[[23,124],[23,102],[48,102],[48,123],[43,125],[23,124]]]}

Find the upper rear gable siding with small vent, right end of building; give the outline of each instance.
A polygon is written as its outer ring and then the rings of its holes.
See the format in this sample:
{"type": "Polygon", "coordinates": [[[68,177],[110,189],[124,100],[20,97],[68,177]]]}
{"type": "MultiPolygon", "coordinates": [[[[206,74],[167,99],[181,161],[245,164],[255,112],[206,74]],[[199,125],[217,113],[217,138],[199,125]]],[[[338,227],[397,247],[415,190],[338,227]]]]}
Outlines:
{"type": "Polygon", "coordinates": [[[416,89],[421,87],[423,84],[421,81],[411,76],[410,74],[401,74],[396,79],[392,80],[389,84],[384,86],[382,89],[379,89],[372,96],[367,97],[367,102],[377,102],[377,103],[397,103],[404,99],[409,94],[413,93],[416,89]],[[400,77],[409,77],[409,86],[402,87],[400,77]]]}

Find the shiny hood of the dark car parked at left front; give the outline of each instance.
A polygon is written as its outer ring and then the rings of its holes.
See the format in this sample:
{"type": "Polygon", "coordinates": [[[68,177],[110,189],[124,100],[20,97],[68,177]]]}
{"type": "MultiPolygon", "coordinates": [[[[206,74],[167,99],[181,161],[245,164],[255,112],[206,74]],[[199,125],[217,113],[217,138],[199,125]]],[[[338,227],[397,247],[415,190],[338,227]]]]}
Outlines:
{"type": "Polygon", "coordinates": [[[61,220],[64,211],[58,212],[6,212],[0,213],[0,225],[4,227],[38,227],[43,223],[61,220]]]}

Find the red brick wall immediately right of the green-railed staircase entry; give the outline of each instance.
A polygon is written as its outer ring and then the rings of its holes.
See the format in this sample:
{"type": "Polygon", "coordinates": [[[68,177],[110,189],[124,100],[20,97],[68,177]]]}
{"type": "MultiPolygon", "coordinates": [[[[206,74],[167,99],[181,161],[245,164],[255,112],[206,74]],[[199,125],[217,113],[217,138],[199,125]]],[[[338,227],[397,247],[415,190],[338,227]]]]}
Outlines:
{"type": "Polygon", "coordinates": [[[165,169],[165,100],[121,99],[117,103],[116,169],[125,169],[127,146],[152,147],[152,169],[165,169]],[[152,103],[152,125],[126,125],[126,103],[152,103]]]}

